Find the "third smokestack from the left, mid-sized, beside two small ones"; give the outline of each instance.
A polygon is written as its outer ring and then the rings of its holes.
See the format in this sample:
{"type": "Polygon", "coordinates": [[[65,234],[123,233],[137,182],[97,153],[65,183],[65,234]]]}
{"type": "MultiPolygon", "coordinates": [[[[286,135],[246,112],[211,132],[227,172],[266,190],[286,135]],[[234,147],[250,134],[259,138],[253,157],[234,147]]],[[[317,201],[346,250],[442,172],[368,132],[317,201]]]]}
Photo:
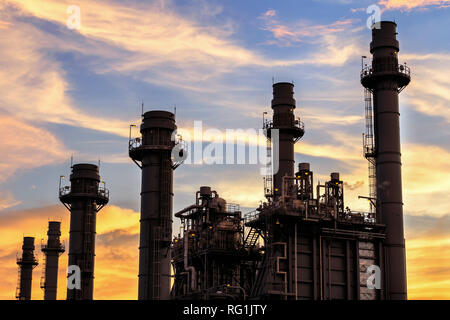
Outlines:
{"type": "Polygon", "coordinates": [[[67,299],[92,300],[97,213],[109,200],[98,166],[73,165],[70,186],[60,188],[59,199],[70,211],[69,266],[78,266],[81,272],[81,289],[68,287],[67,299]]]}

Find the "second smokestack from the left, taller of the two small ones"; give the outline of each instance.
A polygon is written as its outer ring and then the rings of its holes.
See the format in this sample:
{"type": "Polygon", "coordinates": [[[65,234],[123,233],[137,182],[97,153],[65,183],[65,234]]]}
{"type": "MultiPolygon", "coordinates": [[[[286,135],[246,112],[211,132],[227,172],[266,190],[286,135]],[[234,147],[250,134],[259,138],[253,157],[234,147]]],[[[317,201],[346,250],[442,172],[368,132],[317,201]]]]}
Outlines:
{"type": "Polygon", "coordinates": [[[41,248],[45,254],[45,278],[42,287],[44,289],[44,300],[56,300],[59,256],[65,251],[64,245],[59,239],[61,222],[49,221],[47,236],[47,244],[42,245],[41,248]]]}

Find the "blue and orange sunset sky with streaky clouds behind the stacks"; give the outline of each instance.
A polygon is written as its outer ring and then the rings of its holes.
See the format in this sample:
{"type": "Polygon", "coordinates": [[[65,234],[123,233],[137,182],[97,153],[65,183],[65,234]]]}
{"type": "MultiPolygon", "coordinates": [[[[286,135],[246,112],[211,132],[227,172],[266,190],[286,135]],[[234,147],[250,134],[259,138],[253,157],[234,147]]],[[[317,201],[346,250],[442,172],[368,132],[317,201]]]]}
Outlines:
{"type": "MultiPolygon", "coordinates": [[[[97,163],[111,200],[98,216],[95,299],[136,299],[140,170],[129,124],[173,111],[190,132],[258,129],[272,79],[294,81],[305,136],[296,161],[316,182],[339,171],[346,206],[368,210],[362,157],[361,56],[370,56],[366,8],[395,20],[399,58],[412,70],[401,93],[409,299],[450,299],[450,0],[0,0],[0,299],[14,299],[22,237],[46,238],[69,212],[58,180],[74,162],[97,163]],[[81,28],[67,27],[69,5],[81,28]]],[[[138,134],[137,130],[133,135],[138,134]]],[[[210,185],[244,212],[263,200],[256,165],[182,165],[174,210],[210,185]]],[[[174,227],[174,234],[178,232],[174,227]]],[[[42,263],[33,273],[33,299],[42,263]]],[[[58,298],[66,298],[67,252],[58,298]]]]}

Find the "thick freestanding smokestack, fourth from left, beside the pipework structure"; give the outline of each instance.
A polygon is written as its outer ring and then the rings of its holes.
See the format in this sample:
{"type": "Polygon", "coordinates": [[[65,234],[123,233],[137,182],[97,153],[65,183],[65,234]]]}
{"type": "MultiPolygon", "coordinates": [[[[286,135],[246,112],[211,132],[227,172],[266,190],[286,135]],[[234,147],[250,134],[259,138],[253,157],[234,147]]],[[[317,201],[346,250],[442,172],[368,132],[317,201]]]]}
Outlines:
{"type": "Polygon", "coordinates": [[[140,300],[167,300],[170,293],[172,240],[172,149],[176,142],[175,115],[148,111],[141,124],[142,138],[131,139],[129,155],[142,169],[139,245],[140,300]]]}

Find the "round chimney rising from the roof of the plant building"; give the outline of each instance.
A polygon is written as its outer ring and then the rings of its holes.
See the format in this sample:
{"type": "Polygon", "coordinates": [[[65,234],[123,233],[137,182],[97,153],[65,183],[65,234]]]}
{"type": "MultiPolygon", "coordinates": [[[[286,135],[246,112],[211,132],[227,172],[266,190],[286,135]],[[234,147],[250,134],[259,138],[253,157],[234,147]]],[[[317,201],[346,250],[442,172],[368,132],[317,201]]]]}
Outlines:
{"type": "MultiPolygon", "coordinates": [[[[272,109],[273,120],[268,127],[268,135],[273,144],[278,142],[278,170],[277,164],[273,164],[273,194],[276,200],[282,194],[283,177],[294,176],[294,144],[305,133],[303,123],[295,119],[294,115],[293,83],[279,82],[273,85],[272,109]],[[278,129],[278,141],[274,139],[273,129],[278,129]]],[[[289,180],[289,183],[292,183],[292,180],[289,180]]]]}

